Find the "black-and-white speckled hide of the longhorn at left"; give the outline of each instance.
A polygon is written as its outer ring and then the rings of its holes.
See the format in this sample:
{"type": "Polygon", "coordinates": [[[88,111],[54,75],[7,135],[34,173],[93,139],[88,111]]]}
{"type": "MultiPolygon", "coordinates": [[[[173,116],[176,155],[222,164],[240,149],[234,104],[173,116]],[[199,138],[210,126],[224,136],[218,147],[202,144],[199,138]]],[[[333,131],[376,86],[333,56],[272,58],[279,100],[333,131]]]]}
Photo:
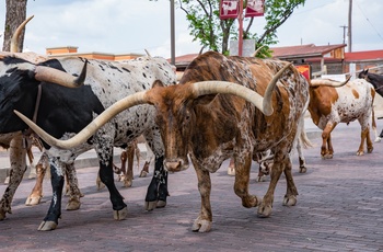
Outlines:
{"type": "MultiPolygon", "coordinates": [[[[42,98],[36,123],[58,138],[69,138],[116,101],[149,90],[154,80],[175,83],[175,73],[171,65],[159,57],[140,57],[127,62],[88,60],[84,85],[68,89],[37,80],[31,71],[39,66],[59,69],[78,75],[85,59],[68,57],[50,59],[34,65],[18,57],[0,59],[0,133],[19,131],[27,126],[13,113],[22,112],[32,118],[36,103],[38,85],[42,98]]],[[[55,82],[56,83],[56,82],[55,82]]],[[[113,147],[125,148],[140,135],[146,137],[155,154],[155,171],[146,196],[146,208],[151,210],[166,204],[167,173],[163,170],[163,144],[155,125],[154,108],[140,105],[124,111],[104,125],[82,145],[70,150],[50,148],[45,142],[49,157],[53,184],[53,202],[39,226],[39,230],[53,230],[61,215],[61,193],[63,185],[63,165],[73,164],[76,158],[86,150],[95,149],[100,160],[100,176],[111,193],[115,219],[124,219],[127,206],[118,193],[113,180],[113,147]]]]}

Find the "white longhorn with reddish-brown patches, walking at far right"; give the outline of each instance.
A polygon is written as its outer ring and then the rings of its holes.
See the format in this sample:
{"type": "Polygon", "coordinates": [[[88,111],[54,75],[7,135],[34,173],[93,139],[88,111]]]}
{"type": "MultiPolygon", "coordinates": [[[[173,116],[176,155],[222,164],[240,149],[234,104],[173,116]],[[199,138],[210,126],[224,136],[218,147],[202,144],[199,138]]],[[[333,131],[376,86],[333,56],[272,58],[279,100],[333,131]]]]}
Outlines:
{"type": "MultiPolygon", "coordinates": [[[[313,80],[314,81],[314,80],[313,80]]],[[[315,80],[315,83],[327,80],[315,80]]],[[[332,145],[332,131],[339,123],[349,124],[358,119],[361,126],[361,141],[357,156],[364,153],[364,141],[367,151],[373,150],[370,138],[370,122],[376,135],[376,125],[373,112],[373,100],[375,91],[373,87],[362,79],[348,81],[343,87],[310,85],[309,112],[313,123],[323,130],[321,156],[330,159],[334,154],[332,145]]]]}

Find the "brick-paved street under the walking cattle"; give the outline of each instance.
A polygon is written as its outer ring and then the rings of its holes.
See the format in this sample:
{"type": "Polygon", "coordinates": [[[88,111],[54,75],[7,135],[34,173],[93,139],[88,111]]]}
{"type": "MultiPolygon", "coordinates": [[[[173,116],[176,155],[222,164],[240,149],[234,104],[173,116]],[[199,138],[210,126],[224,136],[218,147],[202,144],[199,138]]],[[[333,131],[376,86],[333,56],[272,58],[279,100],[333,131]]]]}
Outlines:
{"type": "MultiPolygon", "coordinates": [[[[383,122],[379,121],[379,131],[383,122]]],[[[282,206],[285,177],[275,193],[272,214],[258,218],[256,208],[244,208],[233,192],[234,177],[227,175],[228,162],[212,179],[213,225],[209,233],[192,232],[200,207],[193,168],[171,174],[167,206],[143,210],[150,176],[138,177],[134,186],[117,186],[128,204],[124,221],[113,220],[106,190],[96,191],[96,167],[78,170],[85,196],[79,210],[62,210],[54,231],[37,231],[50,201],[50,182],[45,180],[43,204],[24,205],[34,180],[24,180],[13,214],[0,221],[0,251],[383,251],[383,141],[370,154],[357,157],[358,123],[339,125],[333,134],[335,156],[322,160],[321,139],[304,150],[307,173],[293,175],[299,191],[294,207],[282,206]]],[[[152,172],[151,168],[151,172],[152,172]]],[[[255,182],[253,164],[251,192],[263,196],[268,182],[255,182]]],[[[0,185],[0,194],[5,185],[0,185]]],[[[67,203],[63,198],[63,207],[67,203]]]]}

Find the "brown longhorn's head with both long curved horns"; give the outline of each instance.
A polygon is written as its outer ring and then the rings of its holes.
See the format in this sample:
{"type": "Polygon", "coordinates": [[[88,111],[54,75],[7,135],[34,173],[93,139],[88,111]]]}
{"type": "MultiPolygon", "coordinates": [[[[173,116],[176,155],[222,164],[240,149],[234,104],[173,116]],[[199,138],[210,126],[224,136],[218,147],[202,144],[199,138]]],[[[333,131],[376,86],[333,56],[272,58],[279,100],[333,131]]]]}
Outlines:
{"type": "MultiPolygon", "coordinates": [[[[109,106],[86,128],[68,140],[59,140],[49,136],[27,117],[18,112],[15,113],[48,145],[70,149],[84,142],[119,112],[138,104],[152,104],[156,110],[155,121],[165,146],[165,168],[170,171],[181,171],[188,167],[188,145],[194,141],[189,133],[190,130],[197,130],[194,122],[197,116],[201,116],[196,114],[195,107],[208,104],[219,93],[234,94],[253,103],[262,113],[269,116],[274,112],[271,105],[272,90],[280,76],[290,66],[291,64],[287,64],[275,75],[267,87],[264,98],[251,89],[225,81],[189,82],[169,87],[154,82],[151,90],[138,92],[109,106]]],[[[206,110],[209,110],[208,106],[206,106],[206,110]]],[[[209,130],[211,127],[207,126],[206,128],[209,130]]]]}

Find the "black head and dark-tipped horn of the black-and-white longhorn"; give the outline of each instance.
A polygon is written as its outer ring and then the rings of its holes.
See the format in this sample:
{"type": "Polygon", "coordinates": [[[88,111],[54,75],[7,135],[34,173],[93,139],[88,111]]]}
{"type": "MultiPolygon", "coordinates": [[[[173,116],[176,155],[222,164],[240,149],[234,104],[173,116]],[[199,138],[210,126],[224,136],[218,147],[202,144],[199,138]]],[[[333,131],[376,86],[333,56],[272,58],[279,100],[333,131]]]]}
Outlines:
{"type": "Polygon", "coordinates": [[[0,131],[25,127],[19,119],[14,121],[13,110],[28,112],[28,116],[32,116],[33,107],[30,106],[36,103],[37,87],[42,82],[77,88],[83,84],[85,76],[86,64],[81,75],[73,77],[55,68],[32,64],[22,57],[0,56],[0,131]]]}

